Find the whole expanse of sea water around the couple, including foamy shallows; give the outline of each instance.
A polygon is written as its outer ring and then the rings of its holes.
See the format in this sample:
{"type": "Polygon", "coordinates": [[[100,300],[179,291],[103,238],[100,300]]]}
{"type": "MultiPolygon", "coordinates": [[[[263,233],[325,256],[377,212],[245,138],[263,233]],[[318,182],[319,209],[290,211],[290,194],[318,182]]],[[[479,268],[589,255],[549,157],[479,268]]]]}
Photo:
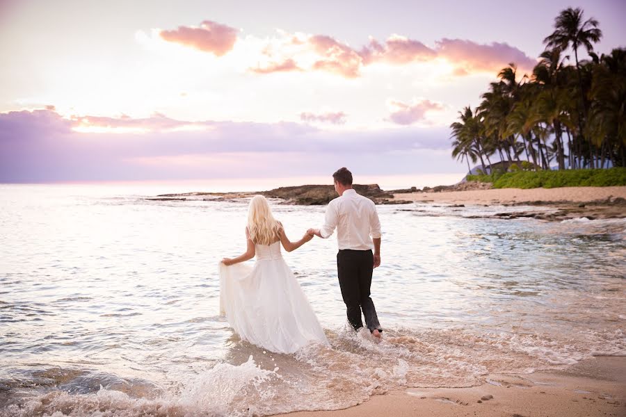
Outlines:
{"type": "MultiPolygon", "coordinates": [[[[218,316],[217,265],[245,248],[246,202],[144,198],[157,193],[0,186],[0,414],[337,409],[389,389],[626,354],[625,220],[378,206],[383,341],[346,326],[333,236],[284,254],[331,347],[282,355],[240,341],[218,316]]],[[[323,207],[273,209],[292,239],[323,220],[323,207]]]]}

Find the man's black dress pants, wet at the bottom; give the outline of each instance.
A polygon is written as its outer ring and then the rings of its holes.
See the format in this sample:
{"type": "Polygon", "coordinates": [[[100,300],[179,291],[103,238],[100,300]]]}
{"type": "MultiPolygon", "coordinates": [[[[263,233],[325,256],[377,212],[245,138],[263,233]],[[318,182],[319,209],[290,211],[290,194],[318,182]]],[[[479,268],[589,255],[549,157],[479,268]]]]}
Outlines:
{"type": "Polygon", "coordinates": [[[337,253],[337,275],[342,297],[346,303],[348,322],[359,329],[363,327],[361,310],[367,328],[381,330],[374,302],[369,297],[371,275],[374,272],[374,255],[371,250],[339,250],[337,253]]]}

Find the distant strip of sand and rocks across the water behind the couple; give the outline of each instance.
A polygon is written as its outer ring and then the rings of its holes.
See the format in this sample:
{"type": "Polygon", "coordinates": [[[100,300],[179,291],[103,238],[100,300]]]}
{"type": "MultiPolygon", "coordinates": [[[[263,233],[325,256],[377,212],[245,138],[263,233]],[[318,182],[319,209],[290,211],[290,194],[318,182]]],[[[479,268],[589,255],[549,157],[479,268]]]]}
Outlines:
{"type": "MultiPolygon", "coordinates": [[[[535,218],[537,220],[563,221],[586,218],[626,218],[626,186],[611,187],[563,187],[563,188],[479,188],[470,184],[470,189],[461,190],[380,190],[376,184],[355,185],[357,192],[372,199],[376,204],[403,204],[417,209],[415,204],[449,204],[454,207],[467,206],[529,206],[515,212],[485,213],[465,216],[468,218],[535,218]]],[[[281,187],[259,192],[231,193],[177,193],[146,198],[148,201],[185,202],[206,200],[214,202],[242,202],[253,195],[262,194],[277,200],[277,204],[295,206],[323,206],[337,193],[328,185],[305,185],[281,187]]],[[[419,209],[417,210],[419,211],[419,209]]],[[[435,215],[435,214],[433,214],[435,215]]]]}

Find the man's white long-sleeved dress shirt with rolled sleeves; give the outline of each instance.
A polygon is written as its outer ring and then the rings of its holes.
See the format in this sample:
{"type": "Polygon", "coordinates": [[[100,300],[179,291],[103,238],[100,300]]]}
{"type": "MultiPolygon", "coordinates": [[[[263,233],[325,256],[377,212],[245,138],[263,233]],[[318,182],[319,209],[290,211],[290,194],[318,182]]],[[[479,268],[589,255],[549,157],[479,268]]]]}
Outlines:
{"type": "Polygon", "coordinates": [[[357,194],[353,189],[332,200],[326,208],[324,225],[319,229],[328,238],[337,228],[339,250],[374,249],[372,238],[380,238],[380,221],[376,205],[371,199],[357,194]]]}

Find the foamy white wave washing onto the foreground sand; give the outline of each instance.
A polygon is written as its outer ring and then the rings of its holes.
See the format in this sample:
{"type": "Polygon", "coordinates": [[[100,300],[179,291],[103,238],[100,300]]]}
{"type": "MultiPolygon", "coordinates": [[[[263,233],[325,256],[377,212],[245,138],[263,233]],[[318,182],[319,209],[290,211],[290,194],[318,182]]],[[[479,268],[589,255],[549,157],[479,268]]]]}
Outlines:
{"type": "MultiPolygon", "coordinates": [[[[266,416],[343,409],[392,389],[475,386],[490,373],[532,373],[566,368],[599,354],[626,355],[622,329],[561,337],[390,329],[381,341],[367,330],[355,333],[348,326],[327,333],[330,347],[313,344],[294,355],[273,354],[239,341],[237,349],[253,353],[246,361],[178,375],[168,389],[145,382],[100,384],[88,393],[48,387],[48,392],[10,401],[0,415],[266,416]]],[[[86,378],[82,372],[55,372],[64,387],[72,386],[72,379],[83,384],[86,378]]]]}

